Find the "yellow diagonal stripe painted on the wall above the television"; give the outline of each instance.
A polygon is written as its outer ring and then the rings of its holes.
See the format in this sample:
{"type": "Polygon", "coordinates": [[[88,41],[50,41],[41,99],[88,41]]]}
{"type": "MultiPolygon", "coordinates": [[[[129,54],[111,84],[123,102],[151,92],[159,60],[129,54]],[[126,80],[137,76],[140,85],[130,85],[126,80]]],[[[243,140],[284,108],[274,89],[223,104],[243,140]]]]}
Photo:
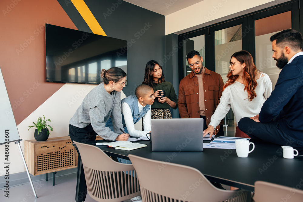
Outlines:
{"type": "Polygon", "coordinates": [[[92,14],[83,0],[72,0],[72,3],[94,34],[106,36],[95,16],[92,14]]]}

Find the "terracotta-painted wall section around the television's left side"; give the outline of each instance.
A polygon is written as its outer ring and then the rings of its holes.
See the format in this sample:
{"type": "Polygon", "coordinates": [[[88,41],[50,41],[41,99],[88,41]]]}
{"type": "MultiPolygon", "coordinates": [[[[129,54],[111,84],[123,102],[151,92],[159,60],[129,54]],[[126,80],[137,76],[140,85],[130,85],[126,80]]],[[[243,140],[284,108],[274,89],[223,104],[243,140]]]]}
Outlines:
{"type": "Polygon", "coordinates": [[[0,68],[18,125],[64,85],[45,81],[45,23],[77,28],[56,0],[1,0],[0,8],[0,68]]]}

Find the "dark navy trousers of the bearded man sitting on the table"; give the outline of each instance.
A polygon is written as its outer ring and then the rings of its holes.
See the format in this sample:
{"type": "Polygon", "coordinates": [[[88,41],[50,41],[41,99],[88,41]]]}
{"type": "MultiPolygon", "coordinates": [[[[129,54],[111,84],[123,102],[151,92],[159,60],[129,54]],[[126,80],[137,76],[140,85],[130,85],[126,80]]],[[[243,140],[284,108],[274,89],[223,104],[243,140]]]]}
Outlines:
{"type": "Polygon", "coordinates": [[[291,147],[303,147],[303,140],[298,140],[282,131],[278,121],[260,123],[245,117],[240,119],[238,127],[241,131],[251,137],[251,139],[261,139],[267,142],[291,147]]]}

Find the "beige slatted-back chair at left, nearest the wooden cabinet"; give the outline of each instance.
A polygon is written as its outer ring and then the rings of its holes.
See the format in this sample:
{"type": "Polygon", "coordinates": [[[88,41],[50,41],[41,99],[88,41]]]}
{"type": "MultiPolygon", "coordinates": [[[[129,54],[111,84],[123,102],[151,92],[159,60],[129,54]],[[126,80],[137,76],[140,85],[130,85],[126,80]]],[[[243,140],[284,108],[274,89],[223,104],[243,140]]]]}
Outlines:
{"type": "Polygon", "coordinates": [[[140,185],[132,164],[113,161],[96,146],[75,142],[84,168],[88,194],[98,202],[121,202],[139,196],[140,185]]]}

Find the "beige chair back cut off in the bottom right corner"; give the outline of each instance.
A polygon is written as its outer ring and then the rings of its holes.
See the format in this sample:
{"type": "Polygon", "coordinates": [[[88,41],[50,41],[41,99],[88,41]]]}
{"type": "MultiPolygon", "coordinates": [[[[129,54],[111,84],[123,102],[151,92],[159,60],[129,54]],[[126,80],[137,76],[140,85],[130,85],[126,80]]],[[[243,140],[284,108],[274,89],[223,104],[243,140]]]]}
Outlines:
{"type": "Polygon", "coordinates": [[[292,187],[286,187],[279,184],[256,181],[255,182],[255,202],[275,202],[287,201],[298,202],[303,201],[303,191],[292,187]]]}

